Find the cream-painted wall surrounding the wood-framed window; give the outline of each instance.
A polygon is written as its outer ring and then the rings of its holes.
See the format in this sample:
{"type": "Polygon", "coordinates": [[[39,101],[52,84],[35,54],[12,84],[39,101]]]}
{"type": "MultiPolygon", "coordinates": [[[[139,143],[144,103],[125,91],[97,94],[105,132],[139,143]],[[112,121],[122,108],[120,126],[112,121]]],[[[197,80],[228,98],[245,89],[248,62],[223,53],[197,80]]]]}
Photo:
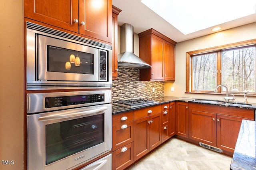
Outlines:
{"type": "MultiPolygon", "coordinates": [[[[217,99],[224,100],[224,95],[203,95],[203,94],[188,94],[186,91],[186,52],[228,43],[241,42],[245,40],[256,39],[256,22],[230,30],[224,30],[200,38],[180,42],[176,44],[175,53],[175,82],[164,83],[164,95],[174,97],[192,97],[200,99],[217,99]],[[174,92],[171,92],[171,87],[174,87],[174,92]]],[[[235,101],[244,102],[243,97],[236,97],[235,101]]],[[[256,97],[248,97],[249,103],[256,103],[256,97]]]]}

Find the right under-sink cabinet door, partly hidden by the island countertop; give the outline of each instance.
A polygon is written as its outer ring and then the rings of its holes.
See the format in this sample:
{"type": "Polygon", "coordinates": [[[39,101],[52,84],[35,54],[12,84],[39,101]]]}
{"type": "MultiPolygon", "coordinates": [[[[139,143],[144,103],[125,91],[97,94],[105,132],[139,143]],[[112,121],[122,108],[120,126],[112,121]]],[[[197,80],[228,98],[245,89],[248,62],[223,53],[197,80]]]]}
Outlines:
{"type": "Polygon", "coordinates": [[[245,118],[217,115],[216,119],[217,148],[234,153],[240,126],[245,118]]]}

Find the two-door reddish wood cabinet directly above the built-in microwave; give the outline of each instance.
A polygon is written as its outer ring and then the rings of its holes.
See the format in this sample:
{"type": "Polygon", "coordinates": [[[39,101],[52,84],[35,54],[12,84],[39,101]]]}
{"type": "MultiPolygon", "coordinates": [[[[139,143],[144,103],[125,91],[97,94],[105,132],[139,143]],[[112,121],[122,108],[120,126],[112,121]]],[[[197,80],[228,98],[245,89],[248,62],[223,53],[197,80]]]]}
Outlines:
{"type": "Polygon", "coordinates": [[[24,0],[24,17],[112,43],[112,0],[24,0]]]}

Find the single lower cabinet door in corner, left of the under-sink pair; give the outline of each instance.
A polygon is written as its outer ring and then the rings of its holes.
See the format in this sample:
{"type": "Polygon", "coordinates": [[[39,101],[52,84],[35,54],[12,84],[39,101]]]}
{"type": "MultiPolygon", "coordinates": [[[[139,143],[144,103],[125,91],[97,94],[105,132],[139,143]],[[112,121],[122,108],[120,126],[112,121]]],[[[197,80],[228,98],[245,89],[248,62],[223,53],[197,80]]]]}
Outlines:
{"type": "Polygon", "coordinates": [[[188,138],[188,103],[176,102],[175,133],[188,138]]]}

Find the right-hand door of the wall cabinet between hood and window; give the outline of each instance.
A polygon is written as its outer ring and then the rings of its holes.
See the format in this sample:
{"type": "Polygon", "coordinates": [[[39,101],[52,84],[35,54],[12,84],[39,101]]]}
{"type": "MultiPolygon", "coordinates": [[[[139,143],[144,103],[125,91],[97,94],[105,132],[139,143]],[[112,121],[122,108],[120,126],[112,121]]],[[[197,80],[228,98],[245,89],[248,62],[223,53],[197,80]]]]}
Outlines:
{"type": "Polygon", "coordinates": [[[175,80],[174,45],[164,42],[164,80],[175,80]]]}

